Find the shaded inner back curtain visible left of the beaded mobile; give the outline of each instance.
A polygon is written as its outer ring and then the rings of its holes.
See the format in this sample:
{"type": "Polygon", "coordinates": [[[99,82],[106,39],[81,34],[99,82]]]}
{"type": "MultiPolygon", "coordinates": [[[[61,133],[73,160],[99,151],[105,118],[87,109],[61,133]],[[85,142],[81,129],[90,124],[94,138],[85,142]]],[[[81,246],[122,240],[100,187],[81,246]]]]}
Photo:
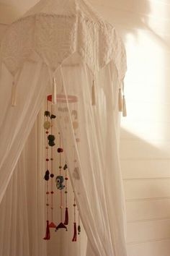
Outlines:
{"type": "MultiPolygon", "coordinates": [[[[24,145],[0,204],[0,255],[46,256],[43,111],[24,145]]],[[[17,154],[17,152],[16,152],[17,154]]]]}

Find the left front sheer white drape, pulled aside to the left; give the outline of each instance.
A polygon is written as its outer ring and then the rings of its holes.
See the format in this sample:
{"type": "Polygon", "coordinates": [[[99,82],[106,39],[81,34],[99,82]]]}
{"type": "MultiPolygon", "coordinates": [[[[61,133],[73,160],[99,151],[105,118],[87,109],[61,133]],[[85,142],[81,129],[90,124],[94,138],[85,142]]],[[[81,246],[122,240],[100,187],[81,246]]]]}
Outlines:
{"type": "Polygon", "coordinates": [[[12,79],[6,67],[2,65],[0,74],[0,202],[42,106],[45,90],[49,85],[48,68],[41,61],[25,61],[17,81],[17,106],[15,107],[12,107],[12,79]]]}

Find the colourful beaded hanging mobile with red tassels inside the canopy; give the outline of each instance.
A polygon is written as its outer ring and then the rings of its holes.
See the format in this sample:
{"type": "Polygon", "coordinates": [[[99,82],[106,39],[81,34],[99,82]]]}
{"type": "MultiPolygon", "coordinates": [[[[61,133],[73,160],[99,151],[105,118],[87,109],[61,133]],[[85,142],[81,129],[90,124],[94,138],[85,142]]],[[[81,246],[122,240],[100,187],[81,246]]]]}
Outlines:
{"type": "MultiPolygon", "coordinates": [[[[66,103],[66,96],[65,95],[57,95],[58,101],[61,103],[66,103]]],[[[68,95],[67,100],[70,103],[74,103],[76,101],[75,96],[68,95]]],[[[61,143],[61,133],[57,132],[54,129],[54,119],[56,118],[55,114],[53,113],[53,105],[52,102],[52,95],[48,95],[47,103],[46,103],[46,111],[44,113],[45,121],[44,121],[44,129],[45,129],[45,187],[46,187],[46,216],[47,216],[47,223],[46,223],[46,233],[45,233],[45,240],[50,239],[50,229],[55,228],[55,231],[58,229],[65,229],[68,230],[68,164],[63,163],[63,147],[61,143]],[[50,104],[49,104],[50,103],[50,104]],[[50,105],[50,106],[49,106],[50,105]],[[58,138],[58,147],[55,145],[55,138],[58,138]],[[56,163],[56,159],[54,159],[58,154],[58,171],[54,169],[56,163]],[[54,180],[56,186],[54,186],[54,180]],[[58,226],[55,225],[53,221],[53,210],[54,210],[54,200],[56,197],[59,197],[60,207],[58,210],[58,214],[60,214],[60,222],[58,226]],[[63,209],[65,208],[65,211],[63,209]]],[[[58,108],[59,111],[65,111],[66,107],[58,108]]],[[[73,110],[71,112],[71,116],[73,117],[73,129],[78,128],[78,121],[77,121],[77,111],[73,110]]],[[[66,117],[66,116],[65,116],[66,117]]],[[[79,139],[76,138],[76,142],[79,142],[79,139]]],[[[76,164],[76,160],[75,160],[76,164]]],[[[75,167],[76,173],[76,167],[75,167]]],[[[80,218],[78,223],[78,228],[76,226],[76,199],[74,196],[73,200],[73,242],[77,240],[77,231],[78,234],[81,232],[80,227],[80,218]]]]}

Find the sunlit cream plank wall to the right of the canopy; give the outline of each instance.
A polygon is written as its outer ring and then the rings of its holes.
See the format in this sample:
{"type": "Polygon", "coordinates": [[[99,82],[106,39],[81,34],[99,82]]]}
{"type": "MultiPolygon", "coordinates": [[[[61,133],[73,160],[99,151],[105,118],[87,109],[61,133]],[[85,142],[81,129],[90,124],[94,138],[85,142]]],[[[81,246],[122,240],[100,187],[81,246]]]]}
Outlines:
{"type": "MultiPolygon", "coordinates": [[[[19,1],[18,1],[19,3],[19,1]]],[[[129,256],[170,255],[170,1],[91,0],[128,55],[121,163],[129,256]]],[[[22,10],[25,11],[22,2],[22,10]]],[[[19,9],[21,12],[21,9],[19,9]]],[[[1,28],[1,27],[0,27],[1,28]]],[[[1,34],[1,33],[0,33],[1,34]]]]}

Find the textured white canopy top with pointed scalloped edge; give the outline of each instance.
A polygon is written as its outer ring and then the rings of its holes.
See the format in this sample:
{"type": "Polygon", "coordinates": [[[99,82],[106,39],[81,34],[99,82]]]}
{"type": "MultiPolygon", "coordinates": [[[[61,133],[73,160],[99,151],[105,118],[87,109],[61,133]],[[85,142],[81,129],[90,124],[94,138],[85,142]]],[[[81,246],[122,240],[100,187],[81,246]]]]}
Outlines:
{"type": "Polygon", "coordinates": [[[123,80],[125,47],[112,25],[85,0],[42,0],[9,26],[1,43],[1,62],[15,75],[24,61],[38,56],[55,72],[75,52],[93,73],[113,61],[123,80]]]}

